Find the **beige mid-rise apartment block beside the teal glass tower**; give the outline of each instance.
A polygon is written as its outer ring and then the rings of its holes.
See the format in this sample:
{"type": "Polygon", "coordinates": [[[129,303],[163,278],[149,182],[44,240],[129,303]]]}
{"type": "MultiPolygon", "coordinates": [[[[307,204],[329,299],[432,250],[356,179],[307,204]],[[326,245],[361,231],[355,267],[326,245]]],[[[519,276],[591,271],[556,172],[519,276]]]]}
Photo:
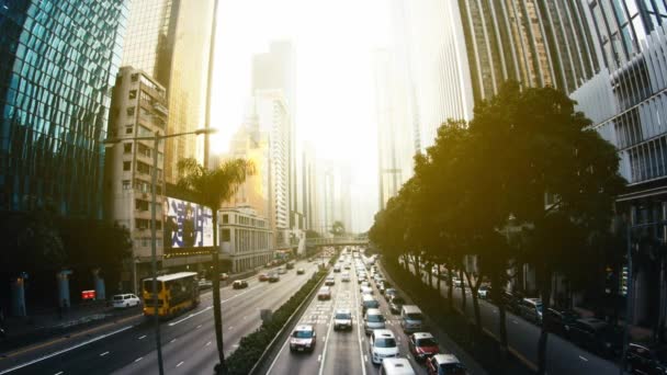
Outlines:
{"type": "MultiPolygon", "coordinates": [[[[165,193],[165,143],[155,149],[152,140],[133,140],[163,134],[167,127],[167,93],[165,88],[147,73],[133,67],[122,67],[113,88],[109,134],[121,139],[106,150],[104,161],[104,216],[129,231],[132,239],[133,281],[146,277],[151,255],[151,173],[157,168],[156,248],[162,259],[162,201],[165,193]],[[158,152],[158,164],[154,164],[158,152]]],[[[129,283],[133,284],[129,284],[129,283]]],[[[131,288],[136,292],[136,288],[131,288]]]]}

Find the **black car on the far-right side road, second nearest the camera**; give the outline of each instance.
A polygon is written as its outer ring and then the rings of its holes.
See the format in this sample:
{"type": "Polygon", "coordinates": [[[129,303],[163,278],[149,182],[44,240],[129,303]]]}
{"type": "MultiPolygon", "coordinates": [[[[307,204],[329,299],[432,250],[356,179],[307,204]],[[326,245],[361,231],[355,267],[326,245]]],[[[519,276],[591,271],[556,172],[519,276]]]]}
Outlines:
{"type": "Polygon", "coordinates": [[[606,357],[615,357],[623,348],[623,332],[596,318],[577,319],[569,327],[569,339],[577,345],[606,357]]]}

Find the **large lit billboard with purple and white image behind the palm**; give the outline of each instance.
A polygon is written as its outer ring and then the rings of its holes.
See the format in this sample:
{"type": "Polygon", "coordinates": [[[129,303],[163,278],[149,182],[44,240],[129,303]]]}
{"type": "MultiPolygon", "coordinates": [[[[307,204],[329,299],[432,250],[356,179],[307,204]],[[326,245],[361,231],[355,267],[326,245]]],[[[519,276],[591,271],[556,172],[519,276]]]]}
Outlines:
{"type": "Polygon", "coordinates": [[[169,196],[163,204],[165,249],[213,246],[211,208],[169,196]]]}

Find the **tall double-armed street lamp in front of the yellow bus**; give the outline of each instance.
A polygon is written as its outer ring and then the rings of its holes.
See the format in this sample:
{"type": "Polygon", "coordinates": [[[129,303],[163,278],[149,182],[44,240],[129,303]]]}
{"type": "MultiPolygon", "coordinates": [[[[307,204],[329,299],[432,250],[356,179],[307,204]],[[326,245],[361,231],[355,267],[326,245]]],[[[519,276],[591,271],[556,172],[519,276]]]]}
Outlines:
{"type": "Polygon", "coordinates": [[[160,371],[160,375],[165,374],[165,368],[162,366],[162,345],[161,345],[161,339],[160,339],[160,321],[158,318],[158,294],[156,293],[156,291],[158,289],[158,262],[157,262],[157,247],[156,247],[156,240],[157,240],[157,234],[156,234],[156,209],[155,209],[155,205],[156,205],[156,188],[157,188],[157,179],[158,179],[158,147],[159,147],[159,143],[162,139],[167,139],[167,138],[174,138],[174,137],[181,137],[181,136],[186,136],[186,135],[208,135],[208,134],[213,134],[216,133],[217,129],[216,128],[203,128],[203,129],[196,129],[194,132],[186,132],[186,133],[176,133],[176,134],[166,134],[166,135],[160,135],[159,130],[155,132],[155,135],[152,136],[145,136],[145,137],[128,137],[128,138],[108,138],[104,139],[103,144],[104,147],[113,147],[115,145],[117,145],[118,143],[123,141],[123,140],[152,140],[154,141],[154,149],[152,149],[152,171],[150,173],[150,179],[151,179],[151,192],[150,192],[150,203],[151,203],[151,207],[150,207],[150,268],[151,268],[151,274],[152,274],[152,308],[154,308],[154,321],[155,321],[155,341],[156,341],[156,345],[158,349],[158,366],[159,366],[159,371],[160,371]]]}

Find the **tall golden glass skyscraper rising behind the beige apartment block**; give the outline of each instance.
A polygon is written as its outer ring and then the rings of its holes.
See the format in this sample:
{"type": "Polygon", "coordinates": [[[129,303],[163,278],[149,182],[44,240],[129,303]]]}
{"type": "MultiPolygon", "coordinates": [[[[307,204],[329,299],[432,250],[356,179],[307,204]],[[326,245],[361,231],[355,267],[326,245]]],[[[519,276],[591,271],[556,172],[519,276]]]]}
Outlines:
{"type": "MultiPolygon", "coordinates": [[[[132,3],[123,66],[144,70],[167,89],[167,133],[204,127],[212,27],[213,0],[136,0],[132,3]]],[[[204,145],[200,137],[174,137],[166,143],[168,183],[178,180],[179,159],[196,158],[203,163],[204,145]]]]}

